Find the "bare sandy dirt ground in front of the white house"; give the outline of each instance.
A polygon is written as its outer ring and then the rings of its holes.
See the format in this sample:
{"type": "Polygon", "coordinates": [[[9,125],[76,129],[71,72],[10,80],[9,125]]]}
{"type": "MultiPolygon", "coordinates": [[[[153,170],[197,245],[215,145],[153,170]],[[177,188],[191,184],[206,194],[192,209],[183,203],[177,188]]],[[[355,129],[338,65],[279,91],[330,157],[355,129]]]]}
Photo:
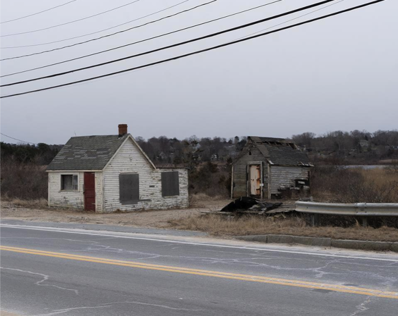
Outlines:
{"type": "Polygon", "coordinates": [[[20,219],[39,222],[108,224],[135,227],[170,228],[170,220],[181,219],[201,212],[219,210],[229,200],[210,200],[206,204],[196,203],[188,209],[171,209],[164,211],[140,211],[127,213],[98,214],[72,209],[28,208],[1,201],[0,216],[2,219],[20,219]]]}

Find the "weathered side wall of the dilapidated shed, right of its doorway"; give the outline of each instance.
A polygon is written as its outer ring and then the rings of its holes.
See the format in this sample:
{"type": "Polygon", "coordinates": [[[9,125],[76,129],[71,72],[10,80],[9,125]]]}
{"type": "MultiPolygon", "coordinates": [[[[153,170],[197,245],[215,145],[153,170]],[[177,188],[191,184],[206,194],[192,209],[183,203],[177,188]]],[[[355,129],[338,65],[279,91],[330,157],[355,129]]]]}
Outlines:
{"type": "Polygon", "coordinates": [[[308,181],[309,170],[309,167],[271,165],[271,194],[279,194],[281,189],[295,187],[295,180],[308,181]]]}

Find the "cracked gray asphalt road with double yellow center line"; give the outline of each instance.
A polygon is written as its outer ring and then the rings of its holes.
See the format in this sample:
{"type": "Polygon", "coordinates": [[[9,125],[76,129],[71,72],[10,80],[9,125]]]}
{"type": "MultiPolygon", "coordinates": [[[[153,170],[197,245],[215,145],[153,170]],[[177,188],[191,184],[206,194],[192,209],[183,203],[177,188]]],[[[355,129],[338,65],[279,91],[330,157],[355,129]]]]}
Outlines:
{"type": "Polygon", "coordinates": [[[398,255],[200,237],[1,228],[21,315],[398,315],[398,255]]]}

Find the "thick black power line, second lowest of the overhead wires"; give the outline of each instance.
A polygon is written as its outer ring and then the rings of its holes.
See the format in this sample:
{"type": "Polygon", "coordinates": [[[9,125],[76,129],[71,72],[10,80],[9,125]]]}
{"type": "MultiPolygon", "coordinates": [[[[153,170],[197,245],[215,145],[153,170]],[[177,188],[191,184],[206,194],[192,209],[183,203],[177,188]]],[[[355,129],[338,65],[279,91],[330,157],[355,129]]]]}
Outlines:
{"type": "Polygon", "coordinates": [[[278,14],[278,15],[275,15],[275,16],[272,16],[272,17],[269,17],[269,18],[257,20],[255,22],[247,23],[247,24],[244,24],[244,25],[240,25],[238,27],[230,28],[230,29],[227,29],[227,30],[223,30],[223,31],[220,31],[220,32],[216,32],[216,33],[212,33],[212,34],[209,34],[209,35],[201,36],[201,37],[194,38],[194,39],[191,39],[191,40],[179,42],[179,43],[176,43],[176,44],[163,46],[161,48],[157,48],[157,49],[154,49],[154,50],[146,51],[146,52],[143,52],[143,53],[130,55],[130,56],[127,56],[127,57],[114,59],[114,60],[103,62],[103,63],[100,63],[100,64],[95,64],[95,65],[90,65],[90,66],[86,66],[86,67],[81,67],[81,68],[68,70],[68,71],[64,71],[64,72],[60,72],[60,73],[56,73],[56,74],[52,74],[52,75],[47,75],[47,76],[42,76],[42,77],[36,77],[36,78],[33,78],[33,79],[27,79],[27,80],[12,82],[12,83],[9,83],[9,84],[0,85],[0,87],[8,87],[8,86],[19,85],[19,84],[32,82],[32,81],[37,81],[37,80],[46,79],[46,78],[54,78],[54,77],[63,76],[63,75],[66,75],[66,74],[77,72],[77,71],[91,69],[91,68],[95,68],[95,67],[99,67],[99,66],[104,66],[104,65],[120,62],[120,61],[123,61],[123,60],[131,59],[131,58],[134,58],[134,57],[143,56],[143,55],[151,54],[151,53],[154,53],[154,52],[159,52],[159,51],[162,51],[162,50],[165,50],[165,49],[169,49],[169,48],[185,45],[185,44],[188,44],[188,43],[192,43],[192,42],[208,39],[208,38],[211,38],[211,37],[215,37],[215,36],[218,36],[218,35],[221,35],[221,34],[224,34],[224,33],[232,32],[232,31],[235,31],[235,30],[243,29],[243,28],[247,28],[247,27],[259,24],[259,23],[263,23],[263,22],[266,22],[266,21],[274,20],[274,19],[277,19],[277,18],[280,18],[280,17],[284,17],[284,16],[287,16],[287,15],[296,13],[296,12],[300,12],[300,11],[311,9],[311,8],[314,8],[314,7],[317,7],[317,6],[321,6],[321,5],[324,5],[326,3],[330,3],[332,1],[335,1],[335,0],[323,0],[321,2],[312,4],[312,5],[308,5],[308,6],[305,6],[305,7],[301,7],[301,8],[295,9],[295,10],[291,10],[291,11],[288,11],[288,12],[285,12],[285,13],[281,13],[281,14],[278,14]]]}

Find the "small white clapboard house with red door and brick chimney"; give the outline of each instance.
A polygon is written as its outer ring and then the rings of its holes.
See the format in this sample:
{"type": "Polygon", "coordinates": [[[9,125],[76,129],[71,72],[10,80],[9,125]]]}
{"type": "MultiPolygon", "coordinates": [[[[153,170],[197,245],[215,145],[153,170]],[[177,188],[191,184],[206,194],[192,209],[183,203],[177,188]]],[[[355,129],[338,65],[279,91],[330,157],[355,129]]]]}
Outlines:
{"type": "Polygon", "coordinates": [[[187,170],[156,168],[126,124],[117,135],[72,137],[47,172],[49,206],[100,213],[188,207],[187,170]]]}

